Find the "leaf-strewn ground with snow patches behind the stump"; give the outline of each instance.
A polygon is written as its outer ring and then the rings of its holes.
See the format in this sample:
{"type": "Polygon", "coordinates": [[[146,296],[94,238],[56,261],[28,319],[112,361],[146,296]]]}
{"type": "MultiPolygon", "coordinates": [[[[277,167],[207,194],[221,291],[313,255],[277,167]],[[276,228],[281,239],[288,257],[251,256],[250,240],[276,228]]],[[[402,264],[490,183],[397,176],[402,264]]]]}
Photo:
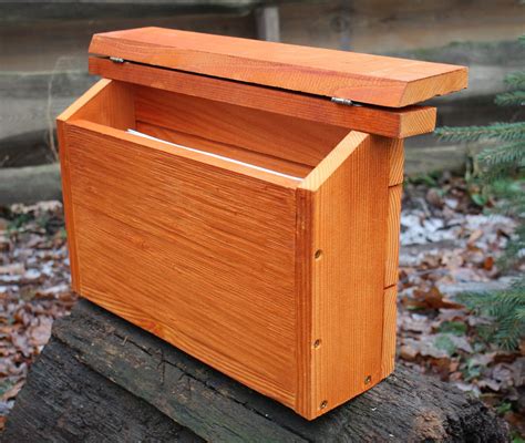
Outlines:
{"type": "MultiPolygon", "coordinates": [[[[503,351],[486,342],[488,319],[469,312],[462,291],[507,287],[498,267],[516,222],[485,214],[463,178],[443,175],[405,185],[401,220],[398,361],[480,396],[525,435],[525,343],[503,351]]],[[[70,290],[62,205],[0,209],[0,429],[27,373],[68,315],[70,290]]],[[[524,269],[521,269],[522,271],[524,269]]],[[[516,270],[514,271],[516,272],[516,270]]]]}

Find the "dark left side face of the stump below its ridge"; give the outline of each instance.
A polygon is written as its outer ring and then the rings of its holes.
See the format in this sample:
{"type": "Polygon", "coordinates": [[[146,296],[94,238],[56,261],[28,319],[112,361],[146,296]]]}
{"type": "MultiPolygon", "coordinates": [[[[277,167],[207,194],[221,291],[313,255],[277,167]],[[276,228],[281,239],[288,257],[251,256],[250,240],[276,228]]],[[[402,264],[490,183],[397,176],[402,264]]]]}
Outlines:
{"type": "Polygon", "coordinates": [[[53,339],[17,396],[3,442],[203,442],[53,339]]]}

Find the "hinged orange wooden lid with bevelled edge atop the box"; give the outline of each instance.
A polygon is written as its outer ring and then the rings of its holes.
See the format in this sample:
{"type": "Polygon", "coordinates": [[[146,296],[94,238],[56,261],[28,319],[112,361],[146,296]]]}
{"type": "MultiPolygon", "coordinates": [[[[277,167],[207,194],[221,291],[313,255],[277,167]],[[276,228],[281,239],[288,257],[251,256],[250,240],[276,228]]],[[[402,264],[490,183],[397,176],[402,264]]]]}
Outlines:
{"type": "Polygon", "coordinates": [[[163,28],[95,34],[90,53],[391,107],[467,85],[464,66],[163,28]]]}

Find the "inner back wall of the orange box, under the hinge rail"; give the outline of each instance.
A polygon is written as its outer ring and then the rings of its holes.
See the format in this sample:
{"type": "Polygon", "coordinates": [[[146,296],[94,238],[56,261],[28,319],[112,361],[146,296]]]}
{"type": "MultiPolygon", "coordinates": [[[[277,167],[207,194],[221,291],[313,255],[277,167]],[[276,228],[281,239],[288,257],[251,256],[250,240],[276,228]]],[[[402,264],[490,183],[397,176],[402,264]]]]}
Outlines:
{"type": "Polygon", "coordinates": [[[348,130],[207,99],[136,89],[138,122],[316,166],[348,130]]]}

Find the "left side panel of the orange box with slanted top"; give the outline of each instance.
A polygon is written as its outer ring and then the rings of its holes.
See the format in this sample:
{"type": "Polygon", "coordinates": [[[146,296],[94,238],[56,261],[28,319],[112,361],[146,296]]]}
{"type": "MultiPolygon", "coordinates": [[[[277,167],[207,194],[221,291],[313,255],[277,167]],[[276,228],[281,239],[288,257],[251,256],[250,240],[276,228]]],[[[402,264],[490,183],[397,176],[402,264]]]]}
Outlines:
{"type": "Polygon", "coordinates": [[[100,124],[120,128],[135,127],[133,87],[112,80],[100,80],[56,119],[62,198],[64,200],[64,218],[71,264],[71,287],[74,291],[79,291],[81,276],[76,254],[74,207],[71,200],[70,156],[64,130],[65,122],[75,119],[89,119],[100,124]]]}

